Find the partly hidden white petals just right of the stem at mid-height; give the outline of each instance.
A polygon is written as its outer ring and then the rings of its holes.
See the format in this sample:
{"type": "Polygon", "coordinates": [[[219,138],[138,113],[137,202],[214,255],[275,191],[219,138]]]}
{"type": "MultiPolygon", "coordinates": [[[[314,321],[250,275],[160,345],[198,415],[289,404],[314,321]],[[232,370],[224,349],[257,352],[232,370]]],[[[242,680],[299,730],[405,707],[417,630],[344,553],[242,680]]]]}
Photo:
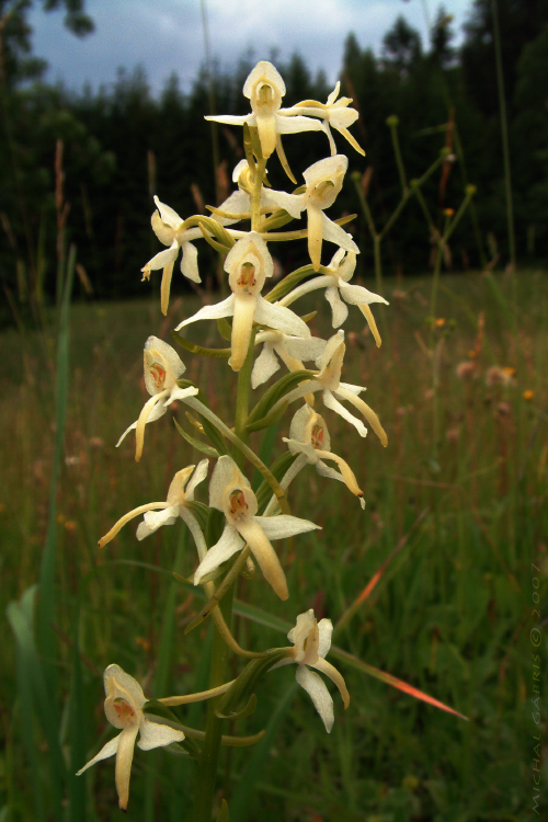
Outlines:
{"type": "Polygon", "coordinates": [[[263,344],[251,373],[251,386],[266,383],[279,368],[279,357],[290,372],[301,370],[302,361],[318,359],[326,347],[326,341],[318,336],[290,336],[283,331],[260,331],[255,343],[263,344]]]}

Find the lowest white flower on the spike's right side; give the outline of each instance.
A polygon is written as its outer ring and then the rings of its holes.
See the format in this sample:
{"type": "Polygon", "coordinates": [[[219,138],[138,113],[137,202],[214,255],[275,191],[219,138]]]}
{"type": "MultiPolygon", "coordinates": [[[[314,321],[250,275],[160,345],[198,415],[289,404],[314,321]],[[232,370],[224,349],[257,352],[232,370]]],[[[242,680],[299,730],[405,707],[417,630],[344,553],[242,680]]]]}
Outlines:
{"type": "Polygon", "coordinates": [[[336,667],[326,660],[331,648],[332,632],[333,625],[331,619],[320,619],[318,623],[312,608],[305,614],[299,614],[297,625],[287,635],[289,642],[293,642],[295,646],[293,648],[293,655],[282,660],[282,662],[272,667],[274,670],[283,665],[290,665],[294,662],[298,665],[295,678],[310,696],[328,733],[331,732],[334,722],[333,699],[323,680],[317,673],[310,671],[310,669],[313,667],[316,671],[321,671],[322,674],[329,676],[331,682],[339,688],[344,707],[347,708],[350,705],[350,694],[343,676],[336,667]]]}

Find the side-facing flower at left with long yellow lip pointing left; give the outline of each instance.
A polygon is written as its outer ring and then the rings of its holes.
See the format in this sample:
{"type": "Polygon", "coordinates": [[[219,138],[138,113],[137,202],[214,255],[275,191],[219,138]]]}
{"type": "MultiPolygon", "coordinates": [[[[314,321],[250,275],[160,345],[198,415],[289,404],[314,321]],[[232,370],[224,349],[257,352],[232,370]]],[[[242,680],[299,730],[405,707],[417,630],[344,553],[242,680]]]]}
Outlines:
{"type": "Polygon", "coordinates": [[[137,528],[137,539],[139,540],[153,534],[162,525],[173,525],[178,516],[189,525],[194,536],[196,528],[199,528],[199,526],[194,514],[187,507],[187,503],[194,501],[194,491],[207,477],[208,466],[208,460],[203,459],[195,471],[195,466],[193,465],[183,468],[182,471],[178,471],[169,487],[165,502],[149,502],[146,505],[139,505],[129,511],[99,540],[99,547],[104,548],[129,520],[134,520],[136,516],[140,516],[140,514],[145,514],[145,518],[137,528]],[[193,471],[194,475],[190,479],[193,471]]]}

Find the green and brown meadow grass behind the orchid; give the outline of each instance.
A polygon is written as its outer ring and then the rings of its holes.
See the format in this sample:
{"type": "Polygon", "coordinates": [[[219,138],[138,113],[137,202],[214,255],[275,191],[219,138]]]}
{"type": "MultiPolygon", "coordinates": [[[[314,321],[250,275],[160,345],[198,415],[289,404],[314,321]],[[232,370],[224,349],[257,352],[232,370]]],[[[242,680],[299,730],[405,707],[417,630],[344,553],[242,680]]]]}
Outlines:
{"type": "MultiPolygon", "coordinates": [[[[427,277],[386,279],[391,305],[374,309],[377,318],[384,311],[380,350],[351,308],[343,378],[368,387],[366,399],[386,427],[388,448],[373,432],[363,441],[340,418],[329,411],[324,416],[332,449],[349,460],[364,489],[365,512],[341,483],[305,472],[292,486],[292,512],[323,532],[279,548],[288,603],[260,575],[243,580],[238,596],[289,623],[309,607],[336,623],[408,536],[336,643],[469,721],[338,663],[352,701],[345,712],[334,697],[335,726],[328,738],[306,694],[294,687],[294,671],[272,672],[261,683],[253,717],[228,731],[269,728],[254,752],[225,749],[221,757],[219,796],[232,796],[233,822],[530,818],[532,560],[540,569],[545,602],[548,575],[548,279],[534,271],[520,272],[515,284],[494,275],[444,276],[434,328],[425,323],[430,287],[427,277]]],[[[320,300],[311,296],[299,312],[320,300]]],[[[102,552],[96,548],[123,513],[163,500],[173,473],[202,458],[179,436],[170,414],[147,426],[138,465],[133,435],[114,447],[148,396],[146,338],[153,333],[171,342],[170,329],[196,307],[195,296],[185,297],[167,319],[157,298],[71,308],[56,495],[57,653],[49,661],[57,684],[48,694],[60,717],[67,773],[75,745],[81,766],[109,737],[102,711],[107,664],[130,672],[148,696],[202,689],[207,682],[209,627],[184,635],[199,598],[171,576],[172,570],[187,576],[196,567],[182,523],[142,543],[128,526],[102,552]]],[[[321,308],[311,327],[327,336],[330,327],[320,317],[328,311],[321,308]]],[[[226,344],[209,323],[197,323],[187,336],[226,344]]],[[[1,335],[2,613],[39,575],[55,449],[55,339],[53,322],[50,339],[32,331],[1,335]]],[[[230,419],[236,381],[226,361],[181,355],[185,377],[230,419]]],[[[181,404],[174,416],[192,431],[181,404]]],[[[282,450],[289,420],[286,413],[272,458],[282,450]]],[[[253,650],[285,643],[282,633],[241,616],[235,631],[253,650]]],[[[25,690],[30,669],[5,623],[3,648],[0,819],[117,819],[112,762],[90,770],[78,787],[67,776],[69,799],[55,809],[44,700],[33,701],[25,690]]],[[[233,673],[239,670],[236,660],[233,673]]],[[[546,722],[546,694],[543,700],[546,722]]],[[[203,718],[199,705],[184,711],[186,724],[202,727],[203,718]]],[[[546,758],[544,767],[546,786],[546,758]]],[[[129,818],[190,819],[193,779],[193,763],[162,751],[137,752],[129,818]]]]}

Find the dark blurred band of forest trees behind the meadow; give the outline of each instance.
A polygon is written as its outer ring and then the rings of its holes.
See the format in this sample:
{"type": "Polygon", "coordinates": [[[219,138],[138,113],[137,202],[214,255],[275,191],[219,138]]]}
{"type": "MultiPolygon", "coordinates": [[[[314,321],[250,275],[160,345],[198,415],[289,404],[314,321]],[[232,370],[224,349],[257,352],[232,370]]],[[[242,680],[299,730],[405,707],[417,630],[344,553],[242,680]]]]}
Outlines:
{"type": "MultiPolygon", "coordinates": [[[[48,0],[44,8],[60,4],[67,10],[66,24],[76,34],[92,31],[82,0],[48,0]]],[[[232,187],[231,171],[241,159],[239,134],[220,126],[218,165],[214,169],[212,127],[203,118],[210,111],[209,77],[215,112],[246,113],[248,103],[241,88],[256,56],[242,56],[232,75],[222,73],[218,66],[208,75],[204,67],[189,94],[181,92],[173,73],[162,93],[153,96],[140,68],[130,72],[121,68],[115,82],[96,91],[69,92],[41,79],[45,64],[30,52],[30,5],[31,0],[15,4],[15,11],[7,16],[13,3],[0,0],[3,287],[24,297],[38,278],[46,294],[55,289],[53,272],[46,263],[46,271],[39,271],[38,261],[55,259],[59,219],[55,157],[56,144],[62,140],[65,199],[70,208],[67,239],[79,249],[89,277],[85,287],[101,298],[139,295],[139,271],[158,250],[144,217],[153,209],[152,195],[158,194],[185,217],[202,210],[204,203],[215,205],[232,187]]],[[[516,250],[521,262],[538,264],[548,255],[548,2],[501,0],[498,5],[516,250]]],[[[457,207],[465,185],[478,186],[476,207],[461,221],[446,260],[446,266],[456,272],[483,267],[488,261],[509,261],[491,11],[490,0],[475,0],[459,48],[453,45],[450,16],[443,8],[431,28],[430,43],[422,43],[401,16],[387,32],[378,57],[361,48],[351,33],[340,75],[342,94],[353,98],[359,111],[353,132],[366,150],[365,159],[347,152],[354,155],[350,171],[367,171],[368,202],[378,221],[385,221],[400,196],[386,125],[390,115],[399,118],[410,179],[420,176],[444,146],[455,152],[455,162],[444,164],[425,189],[437,205],[438,226],[443,209],[457,207]]],[[[287,85],[286,104],[327,99],[331,89],[324,75],[312,76],[301,56],[276,62],[287,85]]],[[[310,135],[307,141],[287,140],[289,161],[297,169],[306,168],[326,153],[322,135],[310,135]]],[[[342,138],[338,148],[346,151],[342,138]]],[[[273,184],[285,187],[277,163],[272,165],[276,165],[273,184]]],[[[351,187],[340,201],[342,209],[359,210],[351,187]]],[[[352,229],[363,247],[358,273],[368,274],[373,256],[370,243],[364,242],[362,217],[352,229]]],[[[431,262],[431,241],[421,209],[413,202],[404,224],[387,238],[387,273],[423,272],[431,262]]]]}

